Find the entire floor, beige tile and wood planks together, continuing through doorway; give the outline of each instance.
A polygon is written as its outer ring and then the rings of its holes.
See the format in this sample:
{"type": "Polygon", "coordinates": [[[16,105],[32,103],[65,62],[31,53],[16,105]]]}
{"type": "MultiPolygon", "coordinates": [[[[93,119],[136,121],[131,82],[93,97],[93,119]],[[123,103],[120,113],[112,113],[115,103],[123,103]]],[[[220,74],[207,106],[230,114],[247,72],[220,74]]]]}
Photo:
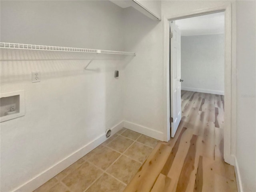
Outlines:
{"type": "Polygon", "coordinates": [[[237,192],[224,162],[224,96],[181,92],[174,138],[122,128],[35,192],[237,192]]]}

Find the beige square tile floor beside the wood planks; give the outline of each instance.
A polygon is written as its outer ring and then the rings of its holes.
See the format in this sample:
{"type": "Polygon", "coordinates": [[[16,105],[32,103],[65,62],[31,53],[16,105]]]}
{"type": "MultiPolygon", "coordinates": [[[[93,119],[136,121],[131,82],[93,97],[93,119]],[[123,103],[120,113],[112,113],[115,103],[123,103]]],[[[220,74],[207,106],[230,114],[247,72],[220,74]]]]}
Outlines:
{"type": "Polygon", "coordinates": [[[157,142],[122,128],[34,192],[122,192],[157,142]]]}

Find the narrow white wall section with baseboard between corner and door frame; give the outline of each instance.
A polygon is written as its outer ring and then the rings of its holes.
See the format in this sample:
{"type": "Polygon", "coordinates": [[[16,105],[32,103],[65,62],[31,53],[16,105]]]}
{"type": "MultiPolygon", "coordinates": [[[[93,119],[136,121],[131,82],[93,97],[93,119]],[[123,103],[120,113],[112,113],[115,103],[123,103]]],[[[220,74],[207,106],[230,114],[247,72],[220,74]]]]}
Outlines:
{"type": "Polygon", "coordinates": [[[125,126],[162,140],[162,23],[131,7],[124,23],[125,47],[137,54],[125,68],[124,118],[135,123],[125,126]]]}

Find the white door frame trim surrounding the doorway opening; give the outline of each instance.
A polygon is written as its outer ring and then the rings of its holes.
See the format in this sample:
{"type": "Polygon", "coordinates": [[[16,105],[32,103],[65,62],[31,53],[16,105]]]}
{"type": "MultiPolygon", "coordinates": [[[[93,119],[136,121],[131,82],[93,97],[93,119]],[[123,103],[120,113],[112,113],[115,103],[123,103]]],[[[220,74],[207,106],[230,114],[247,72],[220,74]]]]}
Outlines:
{"type": "Polygon", "coordinates": [[[164,27],[164,141],[170,140],[170,82],[169,82],[169,22],[172,20],[202,16],[206,14],[225,13],[225,70],[224,70],[224,161],[234,165],[236,149],[236,26],[232,21],[231,2],[220,6],[206,7],[202,9],[184,12],[179,15],[163,16],[164,27]],[[232,30],[233,29],[233,30],[232,30]]]}

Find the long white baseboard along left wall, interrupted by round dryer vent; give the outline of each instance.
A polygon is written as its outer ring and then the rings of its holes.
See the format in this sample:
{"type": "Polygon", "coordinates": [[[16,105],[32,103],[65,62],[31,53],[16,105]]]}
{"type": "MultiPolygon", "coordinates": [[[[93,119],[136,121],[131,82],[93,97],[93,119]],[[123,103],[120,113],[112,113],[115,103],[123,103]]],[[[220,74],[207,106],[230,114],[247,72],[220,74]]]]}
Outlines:
{"type": "MultiPolygon", "coordinates": [[[[114,135],[117,131],[122,129],[124,127],[124,121],[118,123],[114,127],[111,128],[112,134],[114,135]]],[[[21,186],[17,187],[14,189],[14,192],[29,192],[29,191],[34,191],[36,188],[53,178],[56,174],[60,173],[62,170],[67,168],[68,166],[72,165],[75,163],[78,159],[92,151],[92,149],[98,147],[101,143],[106,141],[106,134],[103,133],[96,139],[92,140],[90,143],[84,145],[82,148],[78,149],[74,153],[70,154],[68,157],[62,159],[52,167],[48,168],[44,172],[41,172],[28,182],[22,184],[21,186]]]]}

